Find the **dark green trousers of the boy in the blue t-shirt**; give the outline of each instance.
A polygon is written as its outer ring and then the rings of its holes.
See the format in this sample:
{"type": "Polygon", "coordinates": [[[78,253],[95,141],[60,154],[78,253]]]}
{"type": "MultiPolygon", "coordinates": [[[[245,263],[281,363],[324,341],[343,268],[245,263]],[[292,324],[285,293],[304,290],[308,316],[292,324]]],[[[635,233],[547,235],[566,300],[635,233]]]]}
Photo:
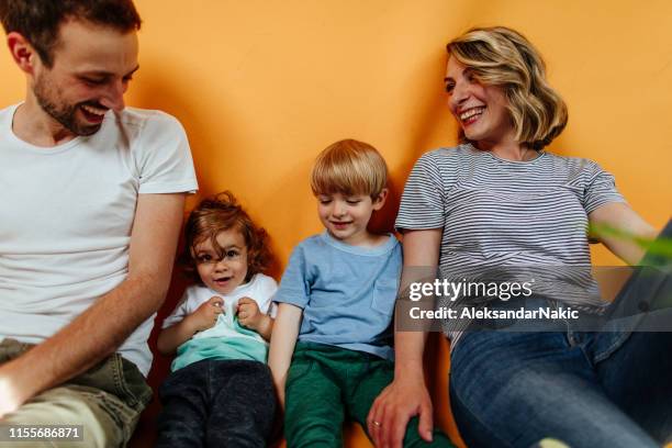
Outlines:
{"type": "MultiPolygon", "coordinates": [[[[298,343],[285,387],[288,447],[343,447],[344,421],[355,421],[367,430],[369,410],[393,378],[394,363],[374,355],[298,343]]],[[[427,444],[417,434],[417,417],[408,423],[404,447],[453,446],[438,429],[427,444]]]]}

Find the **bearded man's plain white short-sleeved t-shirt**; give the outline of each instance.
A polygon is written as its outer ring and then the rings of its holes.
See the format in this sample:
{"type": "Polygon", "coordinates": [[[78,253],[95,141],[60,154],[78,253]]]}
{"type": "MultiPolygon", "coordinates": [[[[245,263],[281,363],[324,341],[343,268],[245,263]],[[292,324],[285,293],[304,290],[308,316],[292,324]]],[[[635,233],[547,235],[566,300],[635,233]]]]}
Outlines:
{"type": "MultiPolygon", "coordinates": [[[[96,134],[37,147],[14,135],[16,108],[0,111],[0,338],[41,343],[126,278],[138,194],[198,184],[163,112],[108,112],[96,134]]],[[[153,320],[119,349],[145,374],[153,320]]]]}

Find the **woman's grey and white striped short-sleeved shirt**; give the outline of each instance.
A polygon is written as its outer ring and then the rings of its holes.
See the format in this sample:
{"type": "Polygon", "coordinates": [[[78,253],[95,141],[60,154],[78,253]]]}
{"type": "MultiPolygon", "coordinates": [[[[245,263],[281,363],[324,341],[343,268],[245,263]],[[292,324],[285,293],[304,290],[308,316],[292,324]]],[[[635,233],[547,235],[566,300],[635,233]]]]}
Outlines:
{"type": "MultiPolygon", "coordinates": [[[[500,280],[534,273],[544,279],[536,294],[602,305],[590,271],[563,267],[590,267],[587,214],[609,202],[625,200],[594,161],[545,152],[513,161],[466,144],[417,160],[395,227],[443,228],[439,269],[450,281],[478,280],[479,272],[492,280],[493,268],[500,280]]],[[[444,322],[443,329],[455,347],[463,328],[444,322]]]]}

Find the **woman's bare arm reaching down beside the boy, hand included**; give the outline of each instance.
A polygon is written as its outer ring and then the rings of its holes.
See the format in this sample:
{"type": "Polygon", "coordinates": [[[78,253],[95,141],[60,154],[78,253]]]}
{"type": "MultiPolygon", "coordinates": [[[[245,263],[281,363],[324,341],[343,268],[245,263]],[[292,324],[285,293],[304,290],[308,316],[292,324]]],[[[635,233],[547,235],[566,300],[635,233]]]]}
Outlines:
{"type": "MultiPolygon", "coordinates": [[[[441,228],[404,233],[404,269],[401,291],[411,282],[433,281],[438,266],[441,228]],[[427,272],[432,278],[427,279],[427,272]]],[[[401,447],[408,421],[419,416],[418,432],[432,441],[434,427],[432,400],[425,384],[423,352],[427,334],[395,332],[394,380],[388,385],[369,412],[367,424],[376,446],[401,447]]]]}

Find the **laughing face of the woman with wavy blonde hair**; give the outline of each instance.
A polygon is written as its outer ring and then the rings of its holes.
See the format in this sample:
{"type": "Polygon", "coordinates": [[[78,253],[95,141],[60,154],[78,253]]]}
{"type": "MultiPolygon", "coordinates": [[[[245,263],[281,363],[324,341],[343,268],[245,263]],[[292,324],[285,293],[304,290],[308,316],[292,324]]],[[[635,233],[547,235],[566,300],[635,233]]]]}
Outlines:
{"type": "Polygon", "coordinates": [[[515,138],[506,109],[508,102],[501,87],[480,83],[455,57],[448,58],[445,81],[450,112],[464,136],[477,142],[480,149],[490,149],[515,138]]]}

